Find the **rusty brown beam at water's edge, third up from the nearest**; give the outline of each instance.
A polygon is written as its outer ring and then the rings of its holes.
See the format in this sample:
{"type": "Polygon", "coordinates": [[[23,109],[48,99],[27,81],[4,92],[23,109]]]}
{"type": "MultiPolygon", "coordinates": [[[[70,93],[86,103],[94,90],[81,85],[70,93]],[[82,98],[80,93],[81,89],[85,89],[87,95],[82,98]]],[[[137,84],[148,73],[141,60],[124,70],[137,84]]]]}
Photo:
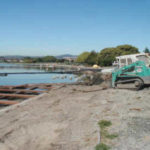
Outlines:
{"type": "Polygon", "coordinates": [[[20,90],[20,89],[0,89],[0,92],[3,93],[31,93],[31,94],[40,94],[40,93],[44,93],[45,91],[35,91],[35,90],[20,90]]]}

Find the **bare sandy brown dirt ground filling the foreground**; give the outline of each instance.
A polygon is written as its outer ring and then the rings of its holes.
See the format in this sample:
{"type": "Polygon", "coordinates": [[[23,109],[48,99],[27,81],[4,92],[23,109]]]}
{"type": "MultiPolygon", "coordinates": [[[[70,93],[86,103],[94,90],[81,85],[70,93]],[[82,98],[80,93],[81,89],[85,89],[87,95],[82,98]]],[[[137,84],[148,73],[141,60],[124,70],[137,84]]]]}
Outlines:
{"type": "Polygon", "coordinates": [[[150,89],[57,86],[0,110],[0,150],[94,150],[110,120],[112,150],[150,150],[150,89]]]}

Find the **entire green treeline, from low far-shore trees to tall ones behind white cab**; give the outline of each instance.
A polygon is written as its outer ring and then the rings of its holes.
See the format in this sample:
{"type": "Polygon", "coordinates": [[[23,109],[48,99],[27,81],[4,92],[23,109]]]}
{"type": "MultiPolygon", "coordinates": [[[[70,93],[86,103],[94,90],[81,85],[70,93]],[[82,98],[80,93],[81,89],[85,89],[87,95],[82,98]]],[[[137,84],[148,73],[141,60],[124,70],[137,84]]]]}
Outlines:
{"type": "MultiPolygon", "coordinates": [[[[148,48],[145,48],[143,51],[145,53],[150,53],[148,48]]],[[[66,59],[58,59],[54,56],[45,56],[45,57],[26,57],[23,59],[25,63],[44,63],[44,62],[57,62],[57,63],[65,63],[65,64],[87,64],[94,65],[97,64],[99,66],[111,66],[115,61],[117,56],[121,55],[129,55],[139,53],[137,47],[132,45],[119,45],[117,47],[109,47],[100,50],[100,52],[83,52],[80,54],[77,59],[74,60],[66,60],[66,59]]]]}

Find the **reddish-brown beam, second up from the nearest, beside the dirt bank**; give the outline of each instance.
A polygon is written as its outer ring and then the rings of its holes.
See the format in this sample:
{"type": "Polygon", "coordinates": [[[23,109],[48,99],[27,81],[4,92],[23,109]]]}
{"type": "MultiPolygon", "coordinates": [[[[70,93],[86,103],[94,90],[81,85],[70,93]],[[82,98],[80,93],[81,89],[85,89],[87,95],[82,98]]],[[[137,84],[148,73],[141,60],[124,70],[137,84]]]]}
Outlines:
{"type": "Polygon", "coordinates": [[[35,95],[25,95],[25,94],[4,94],[4,93],[0,93],[0,96],[10,97],[10,98],[31,98],[31,97],[34,97],[35,95]]]}

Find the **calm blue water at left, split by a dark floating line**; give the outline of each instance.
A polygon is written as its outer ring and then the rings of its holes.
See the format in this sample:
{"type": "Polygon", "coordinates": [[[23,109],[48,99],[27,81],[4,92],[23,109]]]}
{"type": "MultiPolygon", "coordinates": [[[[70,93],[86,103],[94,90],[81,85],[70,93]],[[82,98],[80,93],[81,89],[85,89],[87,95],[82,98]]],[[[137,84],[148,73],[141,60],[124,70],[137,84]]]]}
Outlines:
{"type": "MultiPolygon", "coordinates": [[[[8,68],[8,66],[17,66],[19,64],[0,63],[0,72],[43,72],[45,70],[35,68],[8,68]]],[[[27,83],[72,83],[75,82],[75,75],[72,74],[22,74],[0,76],[0,85],[20,85],[27,83]]]]}

